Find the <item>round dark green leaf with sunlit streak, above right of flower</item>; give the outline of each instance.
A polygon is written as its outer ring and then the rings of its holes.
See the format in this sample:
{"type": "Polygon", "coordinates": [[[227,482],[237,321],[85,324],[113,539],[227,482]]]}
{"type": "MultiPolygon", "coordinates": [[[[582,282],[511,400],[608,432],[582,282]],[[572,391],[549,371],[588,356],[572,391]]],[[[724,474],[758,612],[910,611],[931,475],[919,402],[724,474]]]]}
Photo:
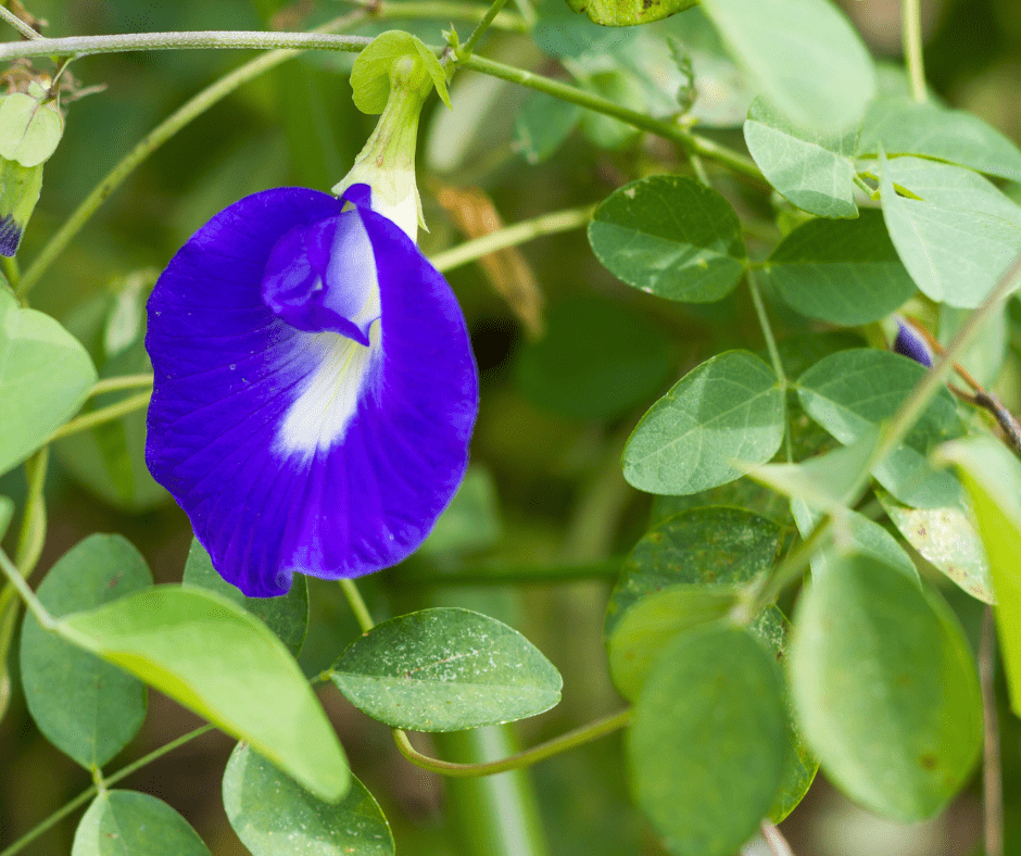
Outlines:
{"type": "Polygon", "coordinates": [[[744,273],[738,215],[693,178],[656,175],[615,190],[592,215],[589,242],[614,276],[669,300],[720,300],[744,273]]]}

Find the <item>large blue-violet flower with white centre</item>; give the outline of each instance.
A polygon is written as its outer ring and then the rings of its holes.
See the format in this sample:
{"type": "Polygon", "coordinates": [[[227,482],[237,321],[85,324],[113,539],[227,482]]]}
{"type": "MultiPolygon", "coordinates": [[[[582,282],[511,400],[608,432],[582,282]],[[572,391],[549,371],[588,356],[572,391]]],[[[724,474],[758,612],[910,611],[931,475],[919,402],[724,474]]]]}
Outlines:
{"type": "Polygon", "coordinates": [[[464,476],[478,375],[415,242],[344,197],[266,190],[181,248],[149,301],[146,460],[250,596],[411,554],[464,476]]]}

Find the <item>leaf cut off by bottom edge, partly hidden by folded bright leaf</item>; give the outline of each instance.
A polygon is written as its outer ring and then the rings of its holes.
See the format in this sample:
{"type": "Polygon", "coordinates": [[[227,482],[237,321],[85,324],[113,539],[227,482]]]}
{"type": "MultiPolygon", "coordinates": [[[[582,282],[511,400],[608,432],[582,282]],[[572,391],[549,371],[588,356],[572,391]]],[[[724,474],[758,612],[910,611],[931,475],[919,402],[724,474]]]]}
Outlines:
{"type": "Polygon", "coordinates": [[[393,835],[373,795],[355,777],[329,805],[239,743],[224,772],[224,808],[252,856],[393,856],[393,835]]]}

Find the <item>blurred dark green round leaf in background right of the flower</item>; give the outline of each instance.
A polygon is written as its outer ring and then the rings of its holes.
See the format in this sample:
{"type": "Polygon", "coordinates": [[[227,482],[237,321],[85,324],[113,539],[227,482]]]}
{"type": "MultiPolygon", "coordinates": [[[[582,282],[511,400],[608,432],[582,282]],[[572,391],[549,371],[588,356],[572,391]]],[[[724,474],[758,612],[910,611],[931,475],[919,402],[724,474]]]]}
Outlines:
{"type": "Polygon", "coordinates": [[[575,298],[546,314],[545,336],[526,344],[515,380],[535,405],[575,419],[607,419],[660,392],[671,361],[663,333],[621,303],[575,298]]]}

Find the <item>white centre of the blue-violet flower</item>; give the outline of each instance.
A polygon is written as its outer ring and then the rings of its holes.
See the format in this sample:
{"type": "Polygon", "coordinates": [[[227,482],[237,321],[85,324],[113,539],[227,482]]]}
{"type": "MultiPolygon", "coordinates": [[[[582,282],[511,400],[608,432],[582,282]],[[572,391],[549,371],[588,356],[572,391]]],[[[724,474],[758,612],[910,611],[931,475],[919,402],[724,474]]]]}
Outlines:
{"type": "Polygon", "coordinates": [[[337,232],[325,285],[356,295],[354,305],[361,305],[349,319],[362,329],[371,325],[369,345],[336,332],[298,333],[295,351],[301,353],[292,351],[290,358],[297,356],[310,370],[274,441],[274,452],[288,457],[307,460],[344,439],[380,355],[379,281],[373,246],[360,217],[345,219],[350,226],[337,232]]]}

